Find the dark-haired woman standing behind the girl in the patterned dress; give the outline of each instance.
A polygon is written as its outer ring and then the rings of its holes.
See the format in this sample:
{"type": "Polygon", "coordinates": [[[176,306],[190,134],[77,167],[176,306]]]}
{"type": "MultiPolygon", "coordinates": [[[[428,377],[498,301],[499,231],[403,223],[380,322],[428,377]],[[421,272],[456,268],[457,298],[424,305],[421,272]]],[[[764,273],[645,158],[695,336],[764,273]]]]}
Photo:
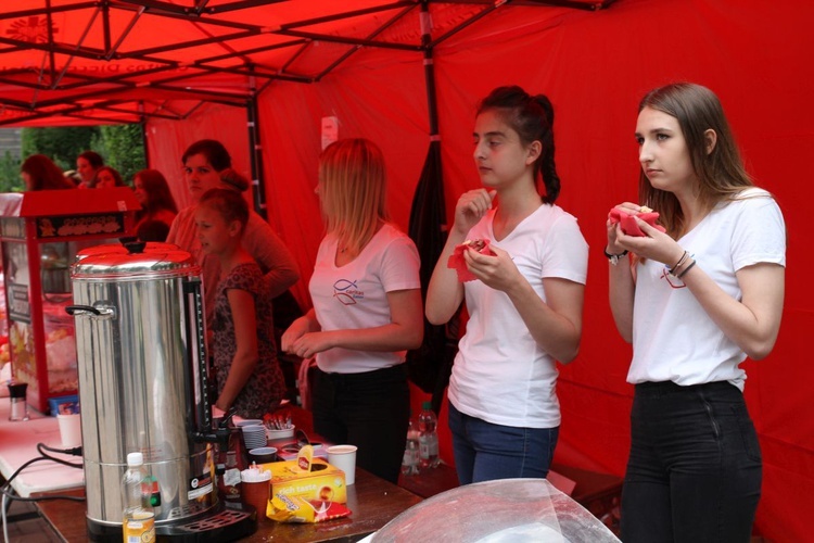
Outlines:
{"type": "MultiPolygon", "coordinates": [[[[195,206],[201,195],[213,188],[226,188],[237,192],[249,189],[249,180],[231,168],[231,156],[222,143],[204,139],[192,143],[181,157],[187,188],[193,204],[181,210],[173,220],[167,242],[189,251],[201,264],[205,287],[207,321],[215,307],[215,289],[220,280],[220,263],[201,250],[195,227],[195,206]],[[226,173],[224,179],[220,174],[226,173]]],[[[284,292],[300,279],[294,257],[275,233],[271,226],[254,212],[249,213],[249,223],[242,237],[243,248],[260,266],[264,286],[271,298],[284,292]]]]}

